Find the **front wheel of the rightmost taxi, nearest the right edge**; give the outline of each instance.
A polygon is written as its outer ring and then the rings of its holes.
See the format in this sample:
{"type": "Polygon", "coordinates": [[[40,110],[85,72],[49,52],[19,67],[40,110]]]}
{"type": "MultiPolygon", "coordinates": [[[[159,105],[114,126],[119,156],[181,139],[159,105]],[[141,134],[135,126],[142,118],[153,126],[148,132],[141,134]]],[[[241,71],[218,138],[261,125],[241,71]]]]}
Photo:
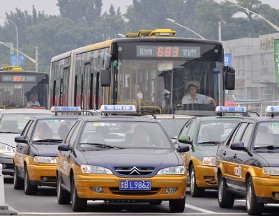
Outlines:
{"type": "Polygon", "coordinates": [[[257,201],[252,177],[249,177],[246,183],[246,210],[248,215],[262,215],[264,211],[264,203],[258,203],[257,201]]]}

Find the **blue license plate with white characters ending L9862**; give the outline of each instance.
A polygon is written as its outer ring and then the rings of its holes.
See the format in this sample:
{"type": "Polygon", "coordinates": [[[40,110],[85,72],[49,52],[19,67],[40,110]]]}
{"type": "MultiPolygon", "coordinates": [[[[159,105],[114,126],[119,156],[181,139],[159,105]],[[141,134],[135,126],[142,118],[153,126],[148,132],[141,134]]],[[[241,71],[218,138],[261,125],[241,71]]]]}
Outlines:
{"type": "Polygon", "coordinates": [[[151,180],[120,180],[119,190],[151,190],[151,180]]]}

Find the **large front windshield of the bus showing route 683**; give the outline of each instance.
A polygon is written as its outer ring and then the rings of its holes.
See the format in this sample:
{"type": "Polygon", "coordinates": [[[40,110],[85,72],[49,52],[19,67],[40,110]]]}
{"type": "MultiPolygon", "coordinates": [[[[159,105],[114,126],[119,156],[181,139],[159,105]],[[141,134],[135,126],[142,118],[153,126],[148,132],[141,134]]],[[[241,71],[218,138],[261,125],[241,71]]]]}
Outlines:
{"type": "Polygon", "coordinates": [[[162,114],[215,115],[221,48],[184,43],[118,43],[116,104],[162,114]]]}

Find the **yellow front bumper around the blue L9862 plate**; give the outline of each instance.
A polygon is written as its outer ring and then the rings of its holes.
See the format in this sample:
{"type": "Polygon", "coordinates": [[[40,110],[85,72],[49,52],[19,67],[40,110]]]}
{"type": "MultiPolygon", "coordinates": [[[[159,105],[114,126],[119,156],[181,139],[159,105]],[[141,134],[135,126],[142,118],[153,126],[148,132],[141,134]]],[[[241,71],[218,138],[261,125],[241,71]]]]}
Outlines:
{"type": "Polygon", "coordinates": [[[119,178],[114,175],[75,175],[75,187],[80,198],[93,200],[170,200],[183,199],[186,192],[186,176],[154,176],[152,178],[119,178]],[[151,180],[150,191],[119,190],[119,180],[151,180]],[[93,192],[91,187],[103,187],[103,192],[93,192]],[[166,194],[169,187],[176,192],[166,194]]]}

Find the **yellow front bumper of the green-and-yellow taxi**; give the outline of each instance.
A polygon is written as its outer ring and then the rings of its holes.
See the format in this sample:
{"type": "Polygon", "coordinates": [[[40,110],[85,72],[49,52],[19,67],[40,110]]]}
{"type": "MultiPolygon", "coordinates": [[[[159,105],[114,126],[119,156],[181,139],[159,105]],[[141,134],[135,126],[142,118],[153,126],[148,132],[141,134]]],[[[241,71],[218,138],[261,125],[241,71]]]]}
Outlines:
{"type": "Polygon", "coordinates": [[[209,166],[197,165],[195,166],[195,177],[198,187],[217,187],[216,178],[214,175],[214,168],[209,166]]]}

